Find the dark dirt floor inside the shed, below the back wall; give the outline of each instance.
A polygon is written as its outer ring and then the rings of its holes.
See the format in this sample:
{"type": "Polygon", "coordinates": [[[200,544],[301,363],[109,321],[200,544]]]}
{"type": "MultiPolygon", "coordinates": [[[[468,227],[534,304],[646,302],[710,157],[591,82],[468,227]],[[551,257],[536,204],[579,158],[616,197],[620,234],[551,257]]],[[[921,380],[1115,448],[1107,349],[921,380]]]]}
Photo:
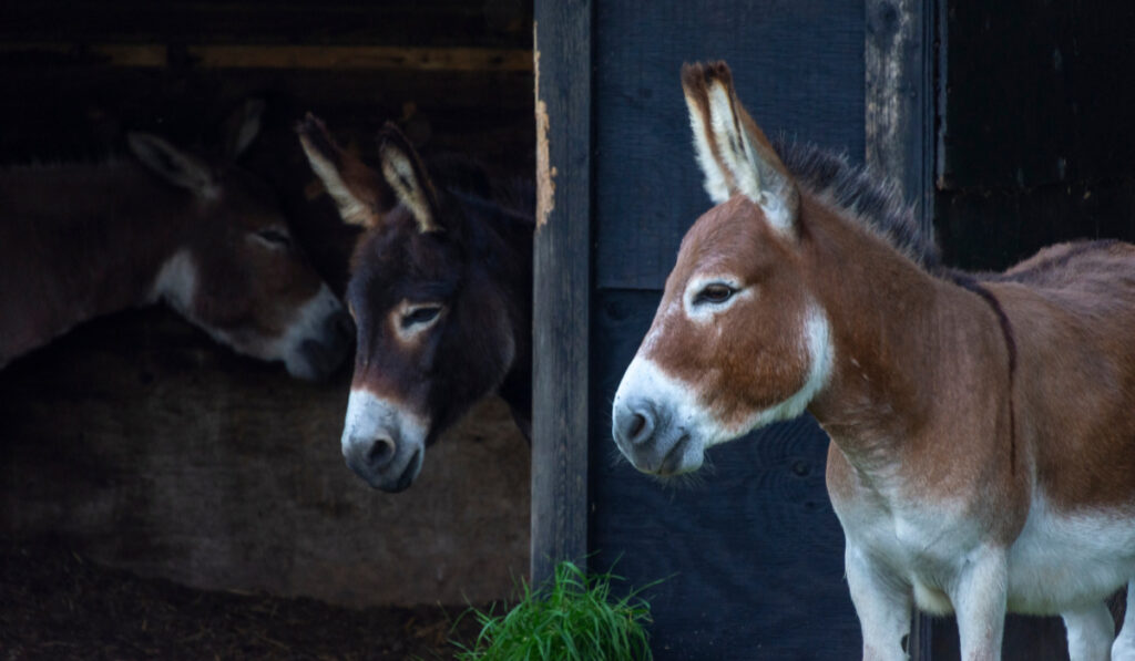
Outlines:
{"type": "Polygon", "coordinates": [[[465,610],[201,592],[99,567],[58,542],[0,537],[0,661],[451,659],[452,639],[477,634],[465,610]]]}

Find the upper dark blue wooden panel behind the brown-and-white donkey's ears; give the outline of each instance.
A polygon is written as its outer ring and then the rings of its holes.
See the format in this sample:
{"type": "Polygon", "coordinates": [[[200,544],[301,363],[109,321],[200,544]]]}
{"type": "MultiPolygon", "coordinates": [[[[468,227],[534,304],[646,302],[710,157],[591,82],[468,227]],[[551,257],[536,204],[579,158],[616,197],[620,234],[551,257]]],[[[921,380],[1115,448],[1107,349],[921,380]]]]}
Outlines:
{"type": "Polygon", "coordinates": [[[706,209],[678,73],[724,59],[768,135],[864,153],[864,5],[647,0],[597,6],[596,280],[661,289],[706,209]]]}

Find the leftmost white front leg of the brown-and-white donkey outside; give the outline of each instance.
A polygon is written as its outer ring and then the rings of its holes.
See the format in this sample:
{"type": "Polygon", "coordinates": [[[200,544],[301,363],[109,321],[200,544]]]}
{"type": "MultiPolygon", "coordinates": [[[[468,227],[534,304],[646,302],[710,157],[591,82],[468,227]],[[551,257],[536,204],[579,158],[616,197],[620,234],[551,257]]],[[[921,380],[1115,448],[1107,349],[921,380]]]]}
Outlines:
{"type": "Polygon", "coordinates": [[[910,633],[910,587],[884,574],[851,544],[843,562],[851,603],[863,629],[864,661],[906,661],[903,642],[910,633]]]}

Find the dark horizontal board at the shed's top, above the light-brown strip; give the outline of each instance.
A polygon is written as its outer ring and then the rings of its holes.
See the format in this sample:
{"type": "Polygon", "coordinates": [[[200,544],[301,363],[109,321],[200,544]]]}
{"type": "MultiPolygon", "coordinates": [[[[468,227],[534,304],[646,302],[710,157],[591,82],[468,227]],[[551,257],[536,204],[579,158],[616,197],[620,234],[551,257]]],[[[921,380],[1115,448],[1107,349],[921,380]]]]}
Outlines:
{"type": "Polygon", "coordinates": [[[524,0],[42,0],[0,5],[0,41],[531,48],[524,0]]]}

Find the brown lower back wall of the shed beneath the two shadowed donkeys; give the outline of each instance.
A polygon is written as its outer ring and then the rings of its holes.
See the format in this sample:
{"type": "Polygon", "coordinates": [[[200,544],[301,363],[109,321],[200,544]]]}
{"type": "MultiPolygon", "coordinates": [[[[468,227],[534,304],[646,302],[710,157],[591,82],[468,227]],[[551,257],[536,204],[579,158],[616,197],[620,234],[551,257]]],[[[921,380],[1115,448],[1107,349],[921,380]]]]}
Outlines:
{"type": "Polygon", "coordinates": [[[493,401],[403,494],[344,465],[350,374],[233,355],[160,308],[0,372],[0,527],[207,590],[346,605],[482,603],[528,563],[528,448],[493,401]]]}

